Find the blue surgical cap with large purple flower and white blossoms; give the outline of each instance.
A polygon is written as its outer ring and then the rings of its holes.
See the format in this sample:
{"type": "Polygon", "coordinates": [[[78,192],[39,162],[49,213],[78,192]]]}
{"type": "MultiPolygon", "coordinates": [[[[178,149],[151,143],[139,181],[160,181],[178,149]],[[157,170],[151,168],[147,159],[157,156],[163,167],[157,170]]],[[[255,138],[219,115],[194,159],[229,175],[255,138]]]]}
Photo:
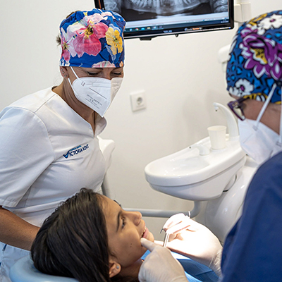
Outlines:
{"type": "Polygon", "coordinates": [[[265,13],[244,23],[231,44],[226,70],[227,90],[238,97],[281,103],[282,11],[265,13]]]}

